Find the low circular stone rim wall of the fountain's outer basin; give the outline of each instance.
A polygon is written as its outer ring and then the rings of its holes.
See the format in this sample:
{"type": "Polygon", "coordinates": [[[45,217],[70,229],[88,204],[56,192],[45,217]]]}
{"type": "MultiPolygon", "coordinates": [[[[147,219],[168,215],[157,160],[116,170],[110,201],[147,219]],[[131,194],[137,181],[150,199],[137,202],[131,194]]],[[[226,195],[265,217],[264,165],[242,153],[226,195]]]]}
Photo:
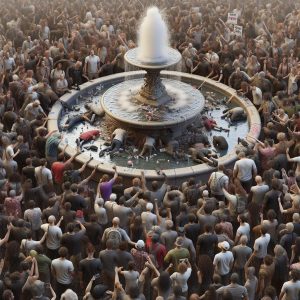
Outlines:
{"type": "MultiPolygon", "coordinates": [[[[136,71],[136,72],[126,72],[126,73],[120,73],[120,74],[115,74],[103,78],[99,78],[97,80],[93,80],[92,82],[87,82],[81,85],[81,90],[80,91],[72,91],[70,94],[65,94],[63,97],[61,97],[61,100],[67,103],[74,104],[78,96],[80,97],[82,94],[84,94],[86,91],[89,91],[93,88],[99,88],[101,89],[102,86],[105,84],[109,84],[110,86],[113,86],[117,83],[121,83],[125,80],[132,80],[132,79],[138,79],[142,78],[144,76],[145,72],[143,71],[136,71]]],[[[232,102],[234,102],[236,105],[243,107],[248,116],[248,126],[249,126],[249,132],[247,136],[252,136],[258,138],[261,130],[261,121],[259,114],[252,104],[251,101],[248,99],[241,98],[237,96],[236,91],[224,84],[215,82],[211,79],[196,76],[196,75],[191,75],[191,74],[186,74],[186,73],[181,73],[181,72],[173,72],[173,71],[163,71],[161,72],[161,75],[163,78],[178,78],[181,81],[184,82],[189,82],[193,86],[200,86],[203,81],[205,81],[205,86],[207,86],[210,90],[215,91],[216,93],[221,93],[222,95],[230,98],[232,98],[232,102]]],[[[49,113],[49,121],[48,121],[48,130],[59,130],[59,122],[60,118],[62,116],[62,105],[60,102],[56,102],[53,107],[51,112],[49,113]]],[[[101,128],[99,128],[101,130],[101,128]]],[[[239,137],[239,132],[238,130],[236,131],[236,138],[239,137]]],[[[244,137],[244,136],[241,136],[244,137]]],[[[65,138],[63,142],[60,144],[60,148],[62,149],[65,146],[65,138]]],[[[249,138],[249,141],[253,141],[252,139],[249,138]]],[[[68,155],[73,155],[76,152],[76,149],[74,146],[68,146],[66,148],[66,153],[68,155]]],[[[78,164],[83,164],[86,162],[88,159],[90,159],[90,156],[88,155],[87,152],[84,152],[76,157],[76,162],[78,164]]],[[[224,164],[225,166],[230,166],[232,165],[237,159],[237,156],[235,154],[234,148],[232,151],[227,153],[224,156],[221,156],[218,161],[219,164],[224,164]]],[[[108,173],[112,174],[114,171],[112,169],[113,164],[106,164],[106,163],[100,163],[97,158],[91,160],[88,164],[89,168],[94,168],[97,166],[98,169],[98,175],[103,173],[108,173]]],[[[207,180],[209,177],[210,173],[214,170],[214,168],[208,166],[207,164],[199,164],[199,165],[192,165],[188,167],[182,167],[182,168],[177,168],[177,167],[172,167],[172,168],[164,168],[164,172],[166,173],[169,181],[174,184],[179,184],[183,181],[185,181],[189,177],[196,177],[197,179],[200,180],[207,180]]],[[[124,177],[125,180],[131,180],[133,177],[140,176],[141,174],[141,169],[137,168],[129,168],[129,167],[121,167],[118,166],[118,173],[124,177]]],[[[162,176],[157,175],[155,169],[153,170],[145,170],[145,176],[146,178],[150,180],[161,180],[162,176]]]]}

